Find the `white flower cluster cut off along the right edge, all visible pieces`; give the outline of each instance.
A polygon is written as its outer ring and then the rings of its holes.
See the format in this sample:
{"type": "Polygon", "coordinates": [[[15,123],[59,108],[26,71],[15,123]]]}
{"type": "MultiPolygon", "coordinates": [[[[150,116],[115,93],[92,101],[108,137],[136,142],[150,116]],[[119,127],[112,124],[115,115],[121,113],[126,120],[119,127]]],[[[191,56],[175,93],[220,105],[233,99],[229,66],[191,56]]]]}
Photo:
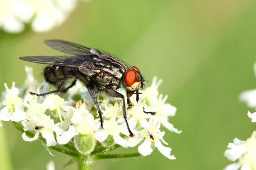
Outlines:
{"type": "MultiPolygon", "coordinates": [[[[254,63],[254,73],[256,75],[256,63],[254,63]]],[[[240,99],[249,107],[256,108],[256,90],[248,90],[242,92],[240,99]]],[[[251,118],[251,122],[256,122],[256,112],[248,111],[247,116],[251,118]]],[[[235,138],[234,143],[229,143],[228,150],[224,156],[233,162],[238,159],[238,162],[228,165],[224,170],[254,170],[256,169],[256,131],[246,141],[240,141],[235,138]]]]}

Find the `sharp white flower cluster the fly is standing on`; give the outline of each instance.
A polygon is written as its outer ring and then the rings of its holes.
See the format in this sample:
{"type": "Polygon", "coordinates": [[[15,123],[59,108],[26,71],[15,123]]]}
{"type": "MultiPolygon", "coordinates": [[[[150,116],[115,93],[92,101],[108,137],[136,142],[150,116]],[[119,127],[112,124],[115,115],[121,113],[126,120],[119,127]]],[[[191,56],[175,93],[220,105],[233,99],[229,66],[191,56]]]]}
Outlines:
{"type": "Polygon", "coordinates": [[[28,90],[42,94],[51,89],[47,83],[36,82],[31,68],[26,67],[26,72],[27,79],[21,88],[16,88],[15,83],[11,88],[5,84],[6,91],[0,103],[0,126],[1,121],[21,122],[25,131],[22,134],[24,141],[31,142],[42,137],[47,147],[73,141],[77,151],[85,155],[90,154],[98,143],[104,147],[115,144],[125,148],[139,145],[138,151],[143,156],[151,154],[156,147],[167,158],[175,159],[171,155],[171,148],[162,144],[168,145],[163,139],[164,131],[160,130],[160,125],[175,133],[181,131],[168,122],[168,117],[175,116],[176,108],[166,103],[167,96],[159,95],[158,87],[162,80],[154,78],[151,87],[141,90],[138,103],[135,95],[131,97],[134,106],[127,110],[127,119],[134,137],[130,138],[121,100],[108,98],[104,93],[96,96],[104,117],[102,129],[93,100],[81,83],[76,83],[61,97],[56,94],[32,96],[28,90]],[[156,114],[145,114],[143,109],[156,114]],[[26,131],[34,131],[34,137],[28,136],[26,131]],[[90,142],[87,143],[90,146],[77,146],[81,142],[79,137],[89,138],[90,142]]]}

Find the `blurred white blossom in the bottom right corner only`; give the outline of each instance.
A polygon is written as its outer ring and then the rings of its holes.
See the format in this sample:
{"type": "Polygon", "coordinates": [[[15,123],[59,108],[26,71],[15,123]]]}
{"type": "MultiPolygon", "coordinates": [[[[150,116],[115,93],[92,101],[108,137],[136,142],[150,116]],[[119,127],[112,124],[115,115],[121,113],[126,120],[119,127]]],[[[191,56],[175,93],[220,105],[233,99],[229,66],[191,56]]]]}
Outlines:
{"type": "Polygon", "coordinates": [[[256,168],[256,131],[246,141],[240,141],[235,138],[234,143],[229,143],[228,150],[225,151],[224,156],[233,162],[238,159],[238,163],[228,165],[226,169],[249,169],[256,168]]]}

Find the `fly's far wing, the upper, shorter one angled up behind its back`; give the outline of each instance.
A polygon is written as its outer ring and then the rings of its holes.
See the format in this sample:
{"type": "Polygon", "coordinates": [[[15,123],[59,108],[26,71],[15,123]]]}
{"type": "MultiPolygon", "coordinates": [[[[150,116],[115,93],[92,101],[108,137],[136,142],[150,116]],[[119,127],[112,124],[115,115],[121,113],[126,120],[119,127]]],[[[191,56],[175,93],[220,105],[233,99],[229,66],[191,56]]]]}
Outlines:
{"type": "Polygon", "coordinates": [[[45,40],[44,43],[59,52],[72,54],[75,56],[84,56],[91,54],[90,48],[73,42],[63,40],[45,40]]]}

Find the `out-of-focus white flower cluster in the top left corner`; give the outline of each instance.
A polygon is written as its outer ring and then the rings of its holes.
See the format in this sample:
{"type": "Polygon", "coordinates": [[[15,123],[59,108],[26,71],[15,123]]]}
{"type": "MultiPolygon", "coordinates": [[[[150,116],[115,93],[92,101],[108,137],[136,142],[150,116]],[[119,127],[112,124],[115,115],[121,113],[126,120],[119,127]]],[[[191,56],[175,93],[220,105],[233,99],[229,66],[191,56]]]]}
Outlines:
{"type": "Polygon", "coordinates": [[[35,32],[47,32],[67,19],[78,0],[1,0],[0,28],[19,33],[25,24],[35,32]]]}

